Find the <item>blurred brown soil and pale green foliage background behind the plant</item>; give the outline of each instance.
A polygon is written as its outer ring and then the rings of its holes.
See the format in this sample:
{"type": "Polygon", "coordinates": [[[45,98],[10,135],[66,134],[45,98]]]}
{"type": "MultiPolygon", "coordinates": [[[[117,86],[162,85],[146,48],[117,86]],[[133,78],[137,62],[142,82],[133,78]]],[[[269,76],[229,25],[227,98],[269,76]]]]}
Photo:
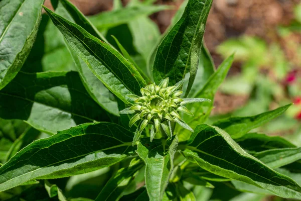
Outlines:
{"type": "MultiPolygon", "coordinates": [[[[95,15],[96,18],[103,12],[114,10],[113,0],[71,2],[85,15],[95,15]]],[[[166,10],[148,14],[156,26],[152,32],[163,34],[184,1],[148,2],[170,6],[166,10]]],[[[51,8],[49,0],[45,4],[51,8]]],[[[128,4],[130,0],[124,0],[120,7],[128,4]]],[[[118,25],[119,28],[122,26],[118,25]]],[[[133,43],[130,46],[139,49],[135,47],[135,39],[130,42],[120,39],[128,34],[123,31],[124,28],[118,30],[115,27],[108,32],[115,36],[121,32],[120,37],[116,37],[123,46],[128,46],[124,43],[133,43]]],[[[293,134],[300,132],[301,124],[301,1],[214,0],[204,38],[216,67],[235,52],[235,62],[215,97],[213,115],[217,118],[256,115],[279,105],[294,103],[285,117],[267,125],[262,132],[297,136],[293,134]]]]}

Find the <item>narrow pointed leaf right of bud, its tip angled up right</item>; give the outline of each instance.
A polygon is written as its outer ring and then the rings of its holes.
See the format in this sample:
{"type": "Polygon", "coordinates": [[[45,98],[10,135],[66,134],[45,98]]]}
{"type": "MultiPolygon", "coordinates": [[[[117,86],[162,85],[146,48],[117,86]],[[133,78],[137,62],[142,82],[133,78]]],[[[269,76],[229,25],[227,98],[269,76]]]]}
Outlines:
{"type": "Polygon", "coordinates": [[[213,125],[225,130],[234,139],[240,138],[250,130],[278,117],[284,113],[289,106],[291,106],[291,104],[251,117],[229,117],[219,120],[213,125]]]}

